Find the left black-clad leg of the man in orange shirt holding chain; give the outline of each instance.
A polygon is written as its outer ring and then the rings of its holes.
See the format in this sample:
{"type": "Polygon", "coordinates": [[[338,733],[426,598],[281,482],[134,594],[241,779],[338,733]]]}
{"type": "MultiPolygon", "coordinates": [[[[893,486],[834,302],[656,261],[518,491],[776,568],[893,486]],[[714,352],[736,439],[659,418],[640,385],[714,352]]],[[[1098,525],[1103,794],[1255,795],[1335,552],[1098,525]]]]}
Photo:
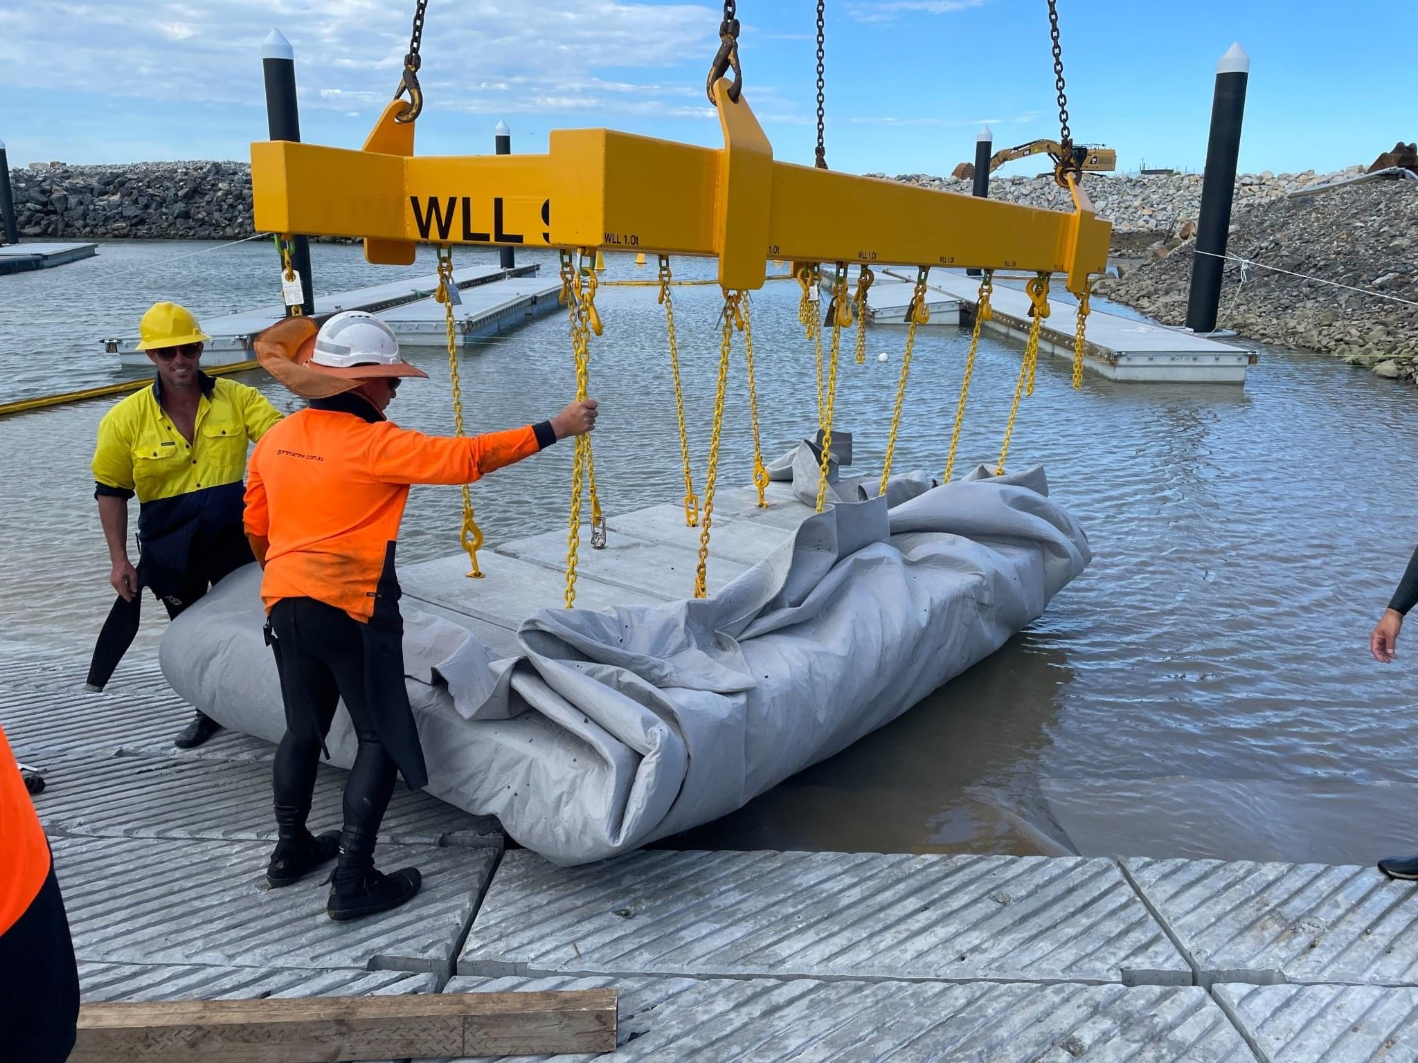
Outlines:
{"type": "Polygon", "coordinates": [[[330,670],[306,646],[306,634],[296,621],[296,600],[275,604],[269,629],[285,703],[285,734],[271,765],[277,845],[267,867],[267,882],[279,887],[330,860],[339,846],[339,832],[328,831],[315,838],[305,825],[315,794],[320,744],[335,719],[339,690],[330,670]]]}

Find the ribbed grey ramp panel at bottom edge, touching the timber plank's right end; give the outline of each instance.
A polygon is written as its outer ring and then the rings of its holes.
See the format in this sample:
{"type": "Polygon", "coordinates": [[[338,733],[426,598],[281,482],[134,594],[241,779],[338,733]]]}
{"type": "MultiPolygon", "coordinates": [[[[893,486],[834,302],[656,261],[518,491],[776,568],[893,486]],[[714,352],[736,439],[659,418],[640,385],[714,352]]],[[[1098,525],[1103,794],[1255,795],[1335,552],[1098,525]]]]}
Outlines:
{"type": "Polygon", "coordinates": [[[454,978],[444,992],[598,986],[620,991],[617,1050],[536,1059],[567,1063],[1254,1060],[1225,1013],[1194,986],[698,981],[637,975],[454,978]]]}

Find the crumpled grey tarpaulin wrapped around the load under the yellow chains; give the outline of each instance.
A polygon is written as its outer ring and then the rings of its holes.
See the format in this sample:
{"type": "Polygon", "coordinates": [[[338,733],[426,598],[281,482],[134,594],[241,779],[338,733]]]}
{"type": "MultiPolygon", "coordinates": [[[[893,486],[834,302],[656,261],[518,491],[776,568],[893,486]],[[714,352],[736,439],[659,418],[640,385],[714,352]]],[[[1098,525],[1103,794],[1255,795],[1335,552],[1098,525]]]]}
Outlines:
{"type": "MultiPolygon", "coordinates": [[[[1038,618],[1088,561],[1042,469],[981,468],[937,488],[903,476],[888,497],[813,516],[703,601],[542,609],[515,659],[489,660],[471,634],[406,601],[428,789],[496,815],[557,863],[634,849],[889,723],[1038,618]]],[[[179,617],[162,663],[199,709],[275,741],[284,716],[258,580],[254,566],[235,573],[179,617]]],[[[345,713],[329,748],[349,767],[345,713]]]]}

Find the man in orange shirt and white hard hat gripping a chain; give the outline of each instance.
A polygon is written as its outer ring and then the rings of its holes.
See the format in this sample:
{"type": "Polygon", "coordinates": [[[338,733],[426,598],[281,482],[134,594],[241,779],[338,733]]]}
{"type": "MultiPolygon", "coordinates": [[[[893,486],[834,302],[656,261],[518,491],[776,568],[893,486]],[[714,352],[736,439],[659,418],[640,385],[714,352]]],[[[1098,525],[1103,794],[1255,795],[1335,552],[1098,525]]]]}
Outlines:
{"type": "Polygon", "coordinates": [[[396,768],[413,789],[428,782],[404,689],[403,618],[394,546],[411,483],[471,483],[596,425],[596,403],[576,401],[535,425],[469,438],[400,428],[384,417],[403,377],[384,322],[336,313],[319,330],[288,317],[255,342],[261,364],[311,401],[257,444],[247,476],[245,529],[261,563],[267,641],[281,672],[286,731],[272,782],[279,840],[271,886],[296,882],[339,853],[330,918],[403,904],[420,874],[374,870],[374,838],[396,768]],[[305,825],[325,736],[339,700],[359,751],[345,782],[345,829],[319,838],[305,825]]]}

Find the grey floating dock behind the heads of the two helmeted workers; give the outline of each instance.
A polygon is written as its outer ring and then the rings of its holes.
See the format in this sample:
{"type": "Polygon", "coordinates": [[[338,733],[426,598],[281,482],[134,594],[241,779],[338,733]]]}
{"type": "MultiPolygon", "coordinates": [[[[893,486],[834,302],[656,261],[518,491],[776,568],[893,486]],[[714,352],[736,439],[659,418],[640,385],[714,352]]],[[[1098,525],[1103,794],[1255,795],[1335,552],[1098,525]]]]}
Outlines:
{"type": "MultiPolygon", "coordinates": [[[[472,289],[481,288],[484,285],[498,285],[505,281],[535,281],[539,266],[537,265],[522,265],[522,266],[493,266],[493,265],[476,265],[465,266],[462,269],[454,271],[454,283],[458,286],[459,293],[471,292],[472,289]]],[[[546,282],[536,282],[542,288],[547,288],[546,282]]],[[[407,308],[410,303],[417,303],[420,300],[428,300],[430,306],[437,309],[437,317],[442,319],[442,305],[431,299],[432,293],[438,289],[437,274],[428,274],[427,276],[415,276],[407,281],[393,281],[390,283],[372,285],[369,288],[356,288],[347,292],[335,292],[333,295],[318,295],[315,298],[315,312],[316,313],[335,313],[336,310],[369,310],[370,313],[380,313],[384,310],[394,310],[407,308]]],[[[552,286],[553,303],[554,293],[560,291],[560,283],[552,286]]],[[[516,288],[515,296],[508,298],[525,298],[526,291],[523,286],[516,288]]],[[[468,295],[464,295],[464,306],[469,308],[462,312],[459,329],[464,334],[484,334],[488,330],[499,330],[499,323],[512,317],[516,317],[516,312],[506,308],[505,303],[508,298],[498,298],[492,292],[481,293],[478,299],[469,300],[468,295]],[[471,308],[482,308],[482,316],[476,317],[471,308]]],[[[458,308],[455,308],[458,309],[458,308]]],[[[410,310],[404,310],[404,315],[410,310]]],[[[390,326],[394,327],[394,333],[400,334],[400,327],[394,325],[394,320],[404,319],[389,317],[390,326]]],[[[522,315],[526,316],[526,315],[522,315]]],[[[252,339],[262,329],[268,329],[278,320],[285,317],[285,308],[277,303],[269,306],[259,306],[254,310],[244,310],[242,313],[231,313],[223,317],[206,317],[201,322],[203,332],[211,336],[203,351],[204,357],[208,357],[213,363],[231,363],[244,361],[255,359],[255,351],[251,347],[252,339]]],[[[442,325],[440,323],[440,330],[442,325]]],[[[417,334],[417,332],[414,333],[417,334]]],[[[403,336],[400,334],[400,339],[403,336]]],[[[417,339],[414,340],[417,343],[417,339]]],[[[442,340],[438,340],[442,343],[442,340]]],[[[138,343],[138,336],[122,336],[115,339],[105,339],[104,347],[111,354],[118,354],[119,361],[123,366],[147,366],[147,356],[135,350],[133,344],[138,343]]]]}

